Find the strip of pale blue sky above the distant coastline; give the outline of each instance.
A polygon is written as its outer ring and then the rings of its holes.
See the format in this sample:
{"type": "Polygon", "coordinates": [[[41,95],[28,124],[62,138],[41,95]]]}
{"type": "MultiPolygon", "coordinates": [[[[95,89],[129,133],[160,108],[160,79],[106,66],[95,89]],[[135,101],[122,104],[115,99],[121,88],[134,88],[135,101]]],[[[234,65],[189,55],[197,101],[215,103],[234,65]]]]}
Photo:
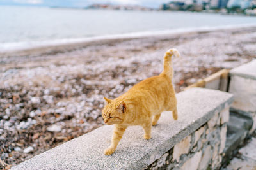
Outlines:
{"type": "Polygon", "coordinates": [[[0,5],[59,6],[83,8],[95,3],[130,4],[158,8],[170,0],[0,0],[0,5]]]}

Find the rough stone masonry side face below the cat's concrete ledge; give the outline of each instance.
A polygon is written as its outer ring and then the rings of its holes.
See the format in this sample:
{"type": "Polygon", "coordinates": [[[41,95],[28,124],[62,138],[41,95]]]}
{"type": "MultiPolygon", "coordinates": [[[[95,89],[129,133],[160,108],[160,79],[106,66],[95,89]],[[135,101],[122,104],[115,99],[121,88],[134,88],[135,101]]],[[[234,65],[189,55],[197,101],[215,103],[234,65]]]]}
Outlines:
{"type": "MultiPolygon", "coordinates": [[[[218,169],[226,143],[229,107],[186,136],[147,169],[218,169]]],[[[225,154],[225,153],[224,153],[225,154]]]]}

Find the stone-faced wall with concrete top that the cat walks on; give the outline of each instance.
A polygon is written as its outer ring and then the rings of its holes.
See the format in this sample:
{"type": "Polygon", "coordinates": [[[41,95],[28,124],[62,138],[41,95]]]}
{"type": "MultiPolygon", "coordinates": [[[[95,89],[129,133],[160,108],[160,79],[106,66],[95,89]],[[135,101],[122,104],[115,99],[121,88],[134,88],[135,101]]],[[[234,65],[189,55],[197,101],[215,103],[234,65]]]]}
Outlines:
{"type": "Polygon", "coordinates": [[[227,92],[191,88],[177,94],[178,120],[163,112],[150,140],[141,127],[129,127],[106,156],[113,126],[104,125],[12,169],[218,169],[232,100],[227,92]]]}

